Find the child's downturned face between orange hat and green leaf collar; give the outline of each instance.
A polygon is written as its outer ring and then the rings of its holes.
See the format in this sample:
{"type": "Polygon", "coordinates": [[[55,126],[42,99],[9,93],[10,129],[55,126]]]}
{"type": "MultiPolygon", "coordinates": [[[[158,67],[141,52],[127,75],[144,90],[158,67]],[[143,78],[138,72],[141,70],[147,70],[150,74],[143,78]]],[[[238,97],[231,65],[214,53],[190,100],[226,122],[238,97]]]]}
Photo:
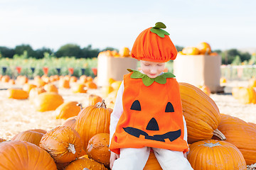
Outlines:
{"type": "Polygon", "coordinates": [[[147,62],[140,60],[141,69],[150,78],[155,78],[164,71],[165,62],[147,62]]]}

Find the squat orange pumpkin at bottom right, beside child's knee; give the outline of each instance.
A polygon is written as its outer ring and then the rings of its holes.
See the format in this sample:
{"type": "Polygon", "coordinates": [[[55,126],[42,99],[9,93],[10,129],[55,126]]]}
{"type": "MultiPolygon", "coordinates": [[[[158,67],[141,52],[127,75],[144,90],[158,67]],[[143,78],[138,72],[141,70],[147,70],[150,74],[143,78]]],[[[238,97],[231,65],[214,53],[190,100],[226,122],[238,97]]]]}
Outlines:
{"type": "Polygon", "coordinates": [[[194,170],[246,170],[242,153],[229,142],[202,140],[189,148],[188,162],[194,170]]]}

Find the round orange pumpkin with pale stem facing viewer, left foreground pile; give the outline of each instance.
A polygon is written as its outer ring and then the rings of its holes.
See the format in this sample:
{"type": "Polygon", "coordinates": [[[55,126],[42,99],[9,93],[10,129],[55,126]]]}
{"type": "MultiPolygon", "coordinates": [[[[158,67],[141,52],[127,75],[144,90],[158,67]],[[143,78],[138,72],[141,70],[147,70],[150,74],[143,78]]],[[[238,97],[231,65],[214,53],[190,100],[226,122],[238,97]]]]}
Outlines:
{"type": "Polygon", "coordinates": [[[68,126],[57,126],[43,135],[39,146],[50,154],[55,162],[72,162],[82,152],[82,141],[78,132],[68,126]]]}

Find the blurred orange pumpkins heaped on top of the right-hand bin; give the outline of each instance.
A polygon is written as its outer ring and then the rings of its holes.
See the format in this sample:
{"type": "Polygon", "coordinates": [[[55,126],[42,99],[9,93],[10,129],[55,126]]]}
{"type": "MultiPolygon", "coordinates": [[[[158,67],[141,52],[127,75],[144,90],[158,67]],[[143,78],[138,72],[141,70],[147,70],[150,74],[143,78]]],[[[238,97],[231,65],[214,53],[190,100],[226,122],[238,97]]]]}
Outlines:
{"type": "Polygon", "coordinates": [[[218,55],[217,52],[212,52],[210,45],[207,42],[200,42],[196,47],[188,46],[184,47],[182,51],[178,52],[178,55],[218,55]]]}

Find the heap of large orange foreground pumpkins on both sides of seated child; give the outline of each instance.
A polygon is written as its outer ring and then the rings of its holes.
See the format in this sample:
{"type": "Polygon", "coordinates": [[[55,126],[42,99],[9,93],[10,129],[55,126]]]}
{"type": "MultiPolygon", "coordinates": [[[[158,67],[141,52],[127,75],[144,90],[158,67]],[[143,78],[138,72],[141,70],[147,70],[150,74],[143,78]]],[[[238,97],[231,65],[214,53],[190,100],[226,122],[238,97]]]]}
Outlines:
{"type": "MultiPolygon", "coordinates": [[[[188,130],[188,161],[193,169],[247,169],[247,165],[255,164],[256,125],[220,114],[212,98],[196,86],[179,85],[188,130]]],[[[112,109],[102,98],[94,99],[86,108],[70,109],[68,113],[78,115],[62,126],[48,132],[27,130],[29,135],[23,137],[27,142],[18,138],[20,134],[1,142],[1,169],[107,169],[112,109]],[[36,140],[31,134],[40,134],[37,143],[30,143],[36,140]]],[[[144,169],[161,169],[153,152],[144,169]]]]}

